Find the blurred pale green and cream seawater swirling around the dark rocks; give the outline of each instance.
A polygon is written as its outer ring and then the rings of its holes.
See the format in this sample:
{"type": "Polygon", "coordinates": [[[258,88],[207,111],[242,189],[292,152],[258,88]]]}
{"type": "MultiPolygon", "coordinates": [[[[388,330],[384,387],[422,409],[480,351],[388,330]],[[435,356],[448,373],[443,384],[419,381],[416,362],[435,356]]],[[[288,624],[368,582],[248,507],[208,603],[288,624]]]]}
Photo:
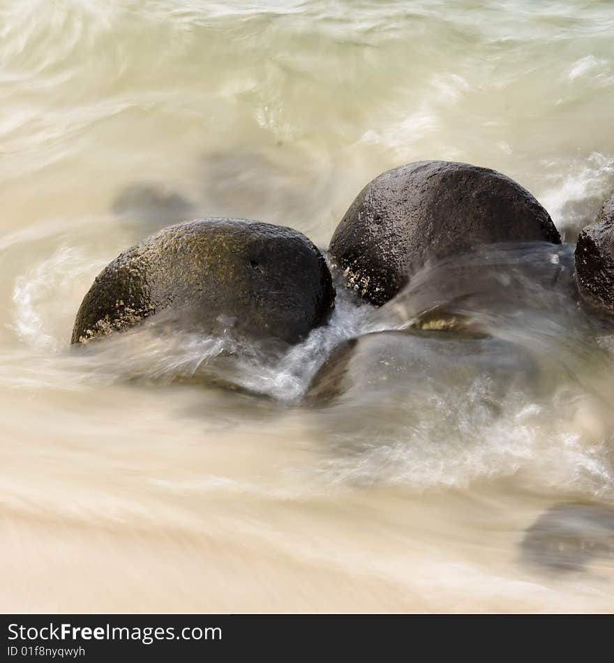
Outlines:
{"type": "Polygon", "coordinates": [[[156,325],[68,343],[157,228],[246,216],[325,248],[408,161],[501,170],[575,241],[614,188],[613,31],[609,0],[0,0],[0,609],[612,611],[614,326],[573,245],[426,265],[377,310],[340,290],[273,357],[156,325]],[[514,379],[505,350],[431,350],[433,306],[513,348],[514,379]]]}

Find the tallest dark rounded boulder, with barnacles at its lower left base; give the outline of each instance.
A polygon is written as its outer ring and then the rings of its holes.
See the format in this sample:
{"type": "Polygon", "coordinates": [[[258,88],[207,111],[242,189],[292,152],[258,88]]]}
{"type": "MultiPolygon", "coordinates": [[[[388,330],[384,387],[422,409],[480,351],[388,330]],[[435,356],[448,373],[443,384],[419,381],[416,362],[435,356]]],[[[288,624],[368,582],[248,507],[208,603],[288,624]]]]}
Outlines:
{"type": "Polygon", "coordinates": [[[468,163],[418,161],[367,184],[330,251],[350,288],[379,306],[429,258],[532,240],[561,241],[548,212],[514,180],[468,163]]]}

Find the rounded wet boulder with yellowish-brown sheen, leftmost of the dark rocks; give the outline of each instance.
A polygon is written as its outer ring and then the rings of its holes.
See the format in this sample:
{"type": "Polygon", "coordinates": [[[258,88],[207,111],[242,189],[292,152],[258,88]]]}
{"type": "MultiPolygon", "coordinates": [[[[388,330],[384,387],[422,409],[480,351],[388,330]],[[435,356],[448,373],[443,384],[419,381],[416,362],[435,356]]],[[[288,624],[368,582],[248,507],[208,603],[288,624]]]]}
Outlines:
{"type": "Polygon", "coordinates": [[[297,230],[202,218],[165,228],[107,265],[82,301],[72,342],[165,311],[172,328],[232,327],[297,343],[327,320],[334,297],[322,254],[297,230]]]}

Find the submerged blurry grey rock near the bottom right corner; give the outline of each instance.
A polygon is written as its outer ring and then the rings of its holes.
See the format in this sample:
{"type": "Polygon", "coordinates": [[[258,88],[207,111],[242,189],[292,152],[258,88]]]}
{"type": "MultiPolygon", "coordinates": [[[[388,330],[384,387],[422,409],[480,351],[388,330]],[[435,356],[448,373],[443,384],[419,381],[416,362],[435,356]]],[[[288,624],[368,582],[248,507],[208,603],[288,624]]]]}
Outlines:
{"type": "Polygon", "coordinates": [[[559,571],[614,558],[614,509],[571,502],[551,507],[525,532],[523,559],[559,571]]]}

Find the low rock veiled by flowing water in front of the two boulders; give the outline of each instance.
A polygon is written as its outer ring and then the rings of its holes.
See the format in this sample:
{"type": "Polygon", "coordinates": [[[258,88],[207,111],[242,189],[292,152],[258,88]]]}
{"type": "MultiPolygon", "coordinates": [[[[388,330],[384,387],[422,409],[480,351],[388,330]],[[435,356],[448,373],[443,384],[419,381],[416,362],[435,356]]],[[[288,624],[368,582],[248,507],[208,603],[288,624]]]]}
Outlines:
{"type": "Polygon", "coordinates": [[[481,405],[498,410],[514,384],[526,390],[537,375],[536,364],[514,343],[479,329],[444,329],[374,332],[341,343],[315,374],[306,401],[343,396],[373,403],[382,396],[412,403],[419,412],[434,398],[451,403],[472,393],[481,405]]]}

